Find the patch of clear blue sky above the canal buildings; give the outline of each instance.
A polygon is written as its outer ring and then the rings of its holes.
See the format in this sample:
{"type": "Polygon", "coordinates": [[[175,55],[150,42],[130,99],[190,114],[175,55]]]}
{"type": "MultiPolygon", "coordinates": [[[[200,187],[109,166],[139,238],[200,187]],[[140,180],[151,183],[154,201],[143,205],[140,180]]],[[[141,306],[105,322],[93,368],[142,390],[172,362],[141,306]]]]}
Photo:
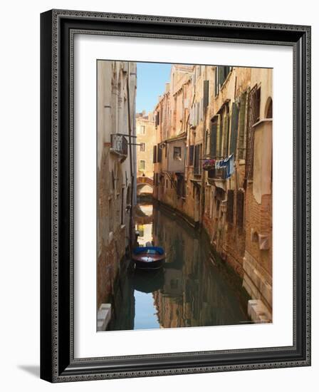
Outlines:
{"type": "Polygon", "coordinates": [[[169,82],[172,64],[137,63],[137,113],[152,112],[158,96],[164,93],[165,83],[169,82]]]}

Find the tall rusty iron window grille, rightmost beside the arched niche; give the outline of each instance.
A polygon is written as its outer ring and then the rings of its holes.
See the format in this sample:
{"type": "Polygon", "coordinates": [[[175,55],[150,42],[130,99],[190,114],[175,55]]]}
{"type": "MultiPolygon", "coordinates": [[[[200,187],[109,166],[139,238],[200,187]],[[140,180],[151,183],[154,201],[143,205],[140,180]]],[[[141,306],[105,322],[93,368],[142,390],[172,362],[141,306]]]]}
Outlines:
{"type": "Polygon", "coordinates": [[[253,125],[256,124],[260,116],[261,107],[261,89],[254,86],[249,93],[249,110],[248,110],[248,127],[246,139],[246,173],[247,180],[253,179],[253,143],[254,130],[253,125]]]}

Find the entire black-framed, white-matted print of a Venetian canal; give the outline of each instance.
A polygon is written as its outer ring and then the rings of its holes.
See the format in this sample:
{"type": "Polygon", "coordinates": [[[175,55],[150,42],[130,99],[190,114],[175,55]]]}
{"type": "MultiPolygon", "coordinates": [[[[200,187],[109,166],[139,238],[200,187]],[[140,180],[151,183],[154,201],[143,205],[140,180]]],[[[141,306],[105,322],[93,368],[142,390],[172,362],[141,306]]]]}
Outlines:
{"type": "Polygon", "coordinates": [[[310,365],[310,27],[41,14],[41,378],[310,365]]]}

